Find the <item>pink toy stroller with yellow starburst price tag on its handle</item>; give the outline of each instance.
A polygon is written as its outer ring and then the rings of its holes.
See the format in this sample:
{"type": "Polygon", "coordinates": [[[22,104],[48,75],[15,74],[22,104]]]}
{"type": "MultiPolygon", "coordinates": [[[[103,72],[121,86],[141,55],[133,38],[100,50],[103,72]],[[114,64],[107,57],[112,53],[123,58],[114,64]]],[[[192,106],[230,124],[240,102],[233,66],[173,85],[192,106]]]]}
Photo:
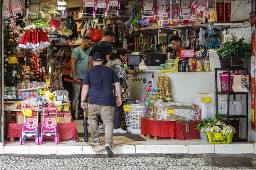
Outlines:
{"type": "Polygon", "coordinates": [[[26,136],[32,137],[35,136],[36,144],[39,144],[39,133],[38,133],[38,108],[25,108],[30,110],[37,110],[37,118],[31,118],[24,116],[24,123],[22,126],[22,136],[20,137],[20,145],[25,142],[26,136]]]}

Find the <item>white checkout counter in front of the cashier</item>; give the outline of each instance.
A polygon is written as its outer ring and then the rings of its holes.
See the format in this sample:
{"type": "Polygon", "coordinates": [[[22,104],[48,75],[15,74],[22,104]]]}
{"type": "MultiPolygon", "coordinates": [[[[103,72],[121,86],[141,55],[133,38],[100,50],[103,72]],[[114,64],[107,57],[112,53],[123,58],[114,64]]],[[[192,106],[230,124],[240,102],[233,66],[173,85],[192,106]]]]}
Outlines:
{"type": "Polygon", "coordinates": [[[214,72],[169,72],[160,73],[160,70],[143,70],[128,78],[127,85],[130,90],[130,100],[140,100],[144,97],[144,88],[152,81],[153,87],[157,87],[159,75],[167,75],[171,78],[173,101],[193,101],[197,92],[214,92],[214,72]],[[141,81],[132,81],[141,78],[141,81]],[[143,82],[144,79],[144,82],[143,82]]]}

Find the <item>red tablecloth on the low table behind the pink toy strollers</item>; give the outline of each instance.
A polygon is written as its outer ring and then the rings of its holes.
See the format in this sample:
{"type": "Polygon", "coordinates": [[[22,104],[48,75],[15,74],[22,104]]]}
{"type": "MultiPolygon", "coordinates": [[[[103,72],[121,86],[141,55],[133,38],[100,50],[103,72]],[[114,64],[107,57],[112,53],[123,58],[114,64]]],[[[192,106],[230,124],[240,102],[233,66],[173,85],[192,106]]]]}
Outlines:
{"type": "MultiPolygon", "coordinates": [[[[8,122],[7,124],[7,137],[21,137],[23,124],[16,122],[8,122]]],[[[38,124],[38,131],[41,132],[42,123],[38,124]]],[[[78,140],[78,133],[76,130],[76,122],[72,120],[71,123],[57,123],[57,133],[60,135],[60,140],[67,141],[76,137],[78,140]]],[[[27,137],[26,137],[27,138],[27,137]]],[[[29,137],[29,139],[35,139],[35,136],[29,137]]],[[[52,137],[44,136],[44,139],[52,139],[52,137]]]]}

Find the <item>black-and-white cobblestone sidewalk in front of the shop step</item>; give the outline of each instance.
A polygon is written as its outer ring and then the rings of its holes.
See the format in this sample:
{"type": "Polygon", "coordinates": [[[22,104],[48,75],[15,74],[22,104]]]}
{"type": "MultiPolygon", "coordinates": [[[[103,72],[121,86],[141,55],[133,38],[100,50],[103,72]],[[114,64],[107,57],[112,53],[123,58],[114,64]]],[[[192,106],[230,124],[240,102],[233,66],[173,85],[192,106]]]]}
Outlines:
{"type": "MultiPolygon", "coordinates": [[[[250,157],[252,162],[255,161],[254,155],[250,157]]],[[[216,167],[211,155],[122,154],[113,158],[106,155],[0,155],[0,169],[235,170],[249,168],[216,167]]]]}

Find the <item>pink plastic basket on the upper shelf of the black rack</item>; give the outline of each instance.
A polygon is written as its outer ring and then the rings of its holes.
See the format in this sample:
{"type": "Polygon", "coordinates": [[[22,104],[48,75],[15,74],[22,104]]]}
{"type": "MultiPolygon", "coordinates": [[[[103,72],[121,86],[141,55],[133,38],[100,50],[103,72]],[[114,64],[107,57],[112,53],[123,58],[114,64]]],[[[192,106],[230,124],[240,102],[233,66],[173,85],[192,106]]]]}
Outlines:
{"type": "MultiPolygon", "coordinates": [[[[220,75],[221,92],[228,92],[228,73],[220,73],[219,75],[220,75]]],[[[244,73],[230,73],[229,92],[234,92],[232,88],[234,75],[244,75],[244,73]]]]}

